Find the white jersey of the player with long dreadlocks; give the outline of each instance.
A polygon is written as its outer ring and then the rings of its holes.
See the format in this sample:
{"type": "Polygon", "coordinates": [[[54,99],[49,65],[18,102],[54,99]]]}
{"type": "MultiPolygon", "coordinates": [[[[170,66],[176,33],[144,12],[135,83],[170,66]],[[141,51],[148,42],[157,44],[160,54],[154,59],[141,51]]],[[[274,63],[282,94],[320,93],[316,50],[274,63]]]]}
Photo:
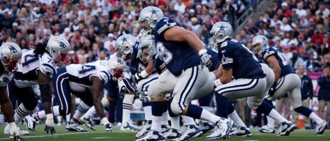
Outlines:
{"type": "Polygon", "coordinates": [[[33,50],[22,54],[21,63],[17,64],[18,70],[14,74],[15,85],[18,88],[25,88],[38,84],[37,70],[53,78],[56,74],[56,64],[54,59],[44,53],[42,56],[34,55],[33,50]]]}

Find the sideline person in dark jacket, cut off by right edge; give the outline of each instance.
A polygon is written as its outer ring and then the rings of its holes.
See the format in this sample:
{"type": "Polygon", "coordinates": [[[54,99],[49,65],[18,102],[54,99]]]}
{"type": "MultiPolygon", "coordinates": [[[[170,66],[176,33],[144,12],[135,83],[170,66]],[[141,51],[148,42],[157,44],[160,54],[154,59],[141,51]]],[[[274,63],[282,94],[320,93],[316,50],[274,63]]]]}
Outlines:
{"type": "MultiPolygon", "coordinates": [[[[323,67],[323,75],[317,79],[317,84],[320,86],[318,90],[318,116],[323,117],[325,106],[330,108],[330,67],[323,67]]],[[[324,118],[329,122],[329,117],[324,118]]]]}

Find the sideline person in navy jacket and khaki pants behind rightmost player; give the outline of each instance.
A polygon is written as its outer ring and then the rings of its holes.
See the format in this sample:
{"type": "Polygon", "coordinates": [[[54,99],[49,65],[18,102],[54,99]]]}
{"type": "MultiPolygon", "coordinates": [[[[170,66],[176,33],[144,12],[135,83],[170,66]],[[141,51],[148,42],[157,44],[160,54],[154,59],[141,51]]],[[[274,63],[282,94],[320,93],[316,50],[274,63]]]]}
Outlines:
{"type": "MultiPolygon", "coordinates": [[[[312,79],[305,72],[304,66],[299,66],[298,75],[301,78],[301,87],[300,87],[301,105],[305,106],[305,107],[310,107],[310,101],[311,101],[311,99],[313,99],[313,95],[314,95],[312,79]]],[[[298,115],[299,115],[299,113],[294,112],[294,115],[293,115],[294,122],[293,123],[296,125],[297,125],[297,121],[298,121],[298,115]]],[[[308,119],[304,116],[303,122],[304,122],[305,129],[310,129],[310,126],[311,126],[310,119],[308,119]]]]}

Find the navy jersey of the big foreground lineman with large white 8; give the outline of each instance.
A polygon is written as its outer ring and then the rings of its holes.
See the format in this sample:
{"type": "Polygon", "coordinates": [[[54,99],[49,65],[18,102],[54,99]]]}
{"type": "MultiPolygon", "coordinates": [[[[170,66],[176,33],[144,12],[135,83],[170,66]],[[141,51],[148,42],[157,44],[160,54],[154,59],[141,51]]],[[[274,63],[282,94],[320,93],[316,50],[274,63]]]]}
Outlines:
{"type": "Polygon", "coordinates": [[[158,55],[165,63],[166,68],[175,76],[179,76],[182,71],[198,66],[200,57],[198,53],[187,42],[167,41],[164,33],[173,26],[180,26],[169,18],[161,18],[155,25],[155,43],[158,55]]]}

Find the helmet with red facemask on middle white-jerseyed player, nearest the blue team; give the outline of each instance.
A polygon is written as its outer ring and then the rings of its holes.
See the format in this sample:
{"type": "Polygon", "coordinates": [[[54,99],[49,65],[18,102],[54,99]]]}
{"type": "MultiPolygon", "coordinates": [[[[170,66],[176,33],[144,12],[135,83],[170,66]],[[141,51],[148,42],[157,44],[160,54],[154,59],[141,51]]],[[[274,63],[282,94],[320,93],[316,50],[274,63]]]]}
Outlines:
{"type": "Polygon", "coordinates": [[[115,81],[123,80],[126,64],[125,61],[120,57],[112,57],[108,60],[107,66],[110,70],[110,74],[115,81]]]}

